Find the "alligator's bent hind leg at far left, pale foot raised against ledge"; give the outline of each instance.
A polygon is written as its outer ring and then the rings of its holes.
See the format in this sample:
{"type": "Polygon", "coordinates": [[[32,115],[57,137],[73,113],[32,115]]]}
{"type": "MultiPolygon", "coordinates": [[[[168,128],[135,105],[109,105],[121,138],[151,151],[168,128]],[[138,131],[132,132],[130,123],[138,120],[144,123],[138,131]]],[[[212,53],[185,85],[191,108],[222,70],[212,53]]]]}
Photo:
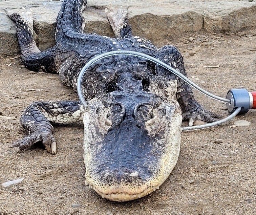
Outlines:
{"type": "Polygon", "coordinates": [[[33,39],[33,13],[32,10],[23,8],[21,13],[9,14],[7,16],[15,21],[17,37],[21,48],[21,58],[25,66],[31,70],[56,72],[54,56],[56,48],[40,51],[33,39]]]}

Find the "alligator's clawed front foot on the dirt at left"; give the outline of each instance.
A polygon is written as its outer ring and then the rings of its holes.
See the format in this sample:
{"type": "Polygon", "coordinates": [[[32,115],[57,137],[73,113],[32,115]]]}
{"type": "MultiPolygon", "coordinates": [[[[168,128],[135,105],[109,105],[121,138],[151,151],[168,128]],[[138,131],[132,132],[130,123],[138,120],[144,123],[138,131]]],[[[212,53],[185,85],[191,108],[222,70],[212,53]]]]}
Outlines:
{"type": "Polygon", "coordinates": [[[37,142],[42,142],[47,152],[52,154],[56,153],[56,139],[52,134],[48,132],[31,134],[19,141],[12,143],[9,147],[19,147],[18,152],[21,152],[24,149],[33,146],[37,142]]]}

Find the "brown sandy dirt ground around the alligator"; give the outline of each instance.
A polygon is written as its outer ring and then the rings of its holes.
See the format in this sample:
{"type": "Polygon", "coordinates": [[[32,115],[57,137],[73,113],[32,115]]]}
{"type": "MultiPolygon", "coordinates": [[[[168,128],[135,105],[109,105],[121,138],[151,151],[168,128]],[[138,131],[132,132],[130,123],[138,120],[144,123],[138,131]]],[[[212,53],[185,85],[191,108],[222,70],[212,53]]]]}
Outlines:
{"type": "MultiPolygon", "coordinates": [[[[254,35],[255,30],[226,35],[201,32],[157,45],[177,46],[184,55],[189,78],[225,96],[231,88],[256,90],[254,35]]],[[[26,135],[19,117],[31,102],[77,99],[57,74],[34,73],[21,65],[20,58],[0,59],[1,116],[15,117],[0,117],[0,182],[24,177],[19,184],[0,185],[1,215],[256,213],[255,110],[235,118],[250,121],[248,127],[232,127],[233,120],[211,129],[183,132],[178,163],[159,190],[138,200],[111,202],[85,186],[82,123],[55,126],[56,155],[46,153],[40,144],[22,153],[8,148],[26,135]],[[27,89],[42,90],[24,91],[27,89]],[[222,143],[215,143],[215,139],[222,143]]],[[[195,95],[207,109],[228,114],[224,104],[198,92],[195,95]]]]}

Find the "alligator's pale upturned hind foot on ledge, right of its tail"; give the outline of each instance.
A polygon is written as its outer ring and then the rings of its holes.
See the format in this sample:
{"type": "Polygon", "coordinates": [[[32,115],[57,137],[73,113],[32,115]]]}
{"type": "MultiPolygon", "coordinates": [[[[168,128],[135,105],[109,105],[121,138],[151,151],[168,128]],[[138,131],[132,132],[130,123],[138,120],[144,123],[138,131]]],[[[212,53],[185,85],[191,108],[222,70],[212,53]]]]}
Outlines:
{"type": "Polygon", "coordinates": [[[120,38],[122,34],[122,29],[128,24],[127,15],[128,15],[129,6],[123,8],[122,6],[118,9],[113,8],[112,4],[109,4],[109,8],[105,9],[108,21],[113,29],[115,37],[120,38]]]}

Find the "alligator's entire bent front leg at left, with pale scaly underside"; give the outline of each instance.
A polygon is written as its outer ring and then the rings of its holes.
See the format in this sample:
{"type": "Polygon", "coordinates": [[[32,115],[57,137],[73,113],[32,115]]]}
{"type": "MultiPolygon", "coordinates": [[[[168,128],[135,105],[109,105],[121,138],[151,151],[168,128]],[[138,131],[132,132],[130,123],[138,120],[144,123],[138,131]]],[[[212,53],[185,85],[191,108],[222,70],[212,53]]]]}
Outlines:
{"type": "Polygon", "coordinates": [[[29,136],[14,142],[10,147],[19,147],[18,152],[42,142],[47,152],[56,153],[54,128],[50,124],[70,124],[83,119],[85,109],[75,101],[35,102],[21,116],[21,124],[29,136]]]}

